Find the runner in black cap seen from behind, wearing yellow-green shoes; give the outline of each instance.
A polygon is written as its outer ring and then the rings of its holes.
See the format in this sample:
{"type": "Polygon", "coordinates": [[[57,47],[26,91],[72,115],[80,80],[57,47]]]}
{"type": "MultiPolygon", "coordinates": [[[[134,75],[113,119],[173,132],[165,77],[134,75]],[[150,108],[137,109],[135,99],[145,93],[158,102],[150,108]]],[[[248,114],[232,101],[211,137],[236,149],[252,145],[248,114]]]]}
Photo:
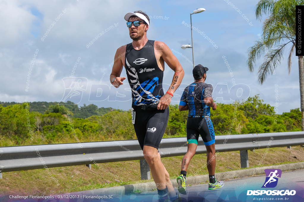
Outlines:
{"type": "Polygon", "coordinates": [[[210,119],[210,107],[216,110],[216,103],[212,99],[212,85],[206,84],[207,67],[196,65],[193,68],[195,82],[188,85],[179,103],[179,111],[189,110],[187,119],[188,150],[181,161],[181,175],[177,178],[178,191],[186,194],[186,174],[188,165],[195,154],[199,134],[207,150],[207,169],[209,172],[209,190],[223,187],[223,181],[217,181],[215,174],[215,134],[210,119]]]}

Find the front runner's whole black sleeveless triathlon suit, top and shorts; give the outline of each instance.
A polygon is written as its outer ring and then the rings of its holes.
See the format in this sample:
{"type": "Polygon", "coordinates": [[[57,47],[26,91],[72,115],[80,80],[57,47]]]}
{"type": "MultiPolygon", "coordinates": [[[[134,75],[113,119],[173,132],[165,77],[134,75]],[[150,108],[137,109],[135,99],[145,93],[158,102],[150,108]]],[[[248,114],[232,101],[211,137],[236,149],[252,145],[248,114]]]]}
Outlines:
{"type": "Polygon", "coordinates": [[[157,65],[154,41],[148,40],[140,50],[135,50],[132,43],[127,44],[125,68],[132,89],[134,129],[140,147],[148,145],[158,149],[168,123],[169,108],[157,110],[164,96],[164,72],[157,65]]]}

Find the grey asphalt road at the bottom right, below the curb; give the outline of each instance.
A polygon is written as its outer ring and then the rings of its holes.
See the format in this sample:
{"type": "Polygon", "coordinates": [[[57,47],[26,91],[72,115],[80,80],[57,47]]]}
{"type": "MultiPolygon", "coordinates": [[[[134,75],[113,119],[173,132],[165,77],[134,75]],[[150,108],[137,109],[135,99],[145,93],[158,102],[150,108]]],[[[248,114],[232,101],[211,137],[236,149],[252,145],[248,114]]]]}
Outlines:
{"type": "MultiPolygon", "coordinates": [[[[187,187],[188,196],[183,195],[185,201],[272,201],[264,198],[280,198],[276,201],[303,201],[304,198],[304,170],[282,172],[278,184],[274,188],[261,188],[265,182],[265,175],[225,180],[224,187],[208,190],[208,184],[187,187]],[[295,190],[295,196],[247,196],[247,190],[295,190]],[[255,199],[254,199],[255,198],[255,199]],[[283,199],[281,199],[283,198],[283,199]],[[286,199],[288,198],[288,199],[286,199]],[[260,199],[260,200],[259,200],[260,199]],[[300,200],[299,200],[300,199],[300,200]]],[[[220,179],[219,179],[220,180],[220,179]]]]}

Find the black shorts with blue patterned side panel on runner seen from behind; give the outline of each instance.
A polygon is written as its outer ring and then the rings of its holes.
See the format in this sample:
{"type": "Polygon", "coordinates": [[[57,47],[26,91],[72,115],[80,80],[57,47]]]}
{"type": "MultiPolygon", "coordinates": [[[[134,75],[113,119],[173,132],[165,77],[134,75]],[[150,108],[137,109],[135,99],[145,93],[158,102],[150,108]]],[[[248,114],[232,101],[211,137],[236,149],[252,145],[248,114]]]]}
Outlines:
{"type": "Polygon", "coordinates": [[[201,134],[205,145],[208,146],[215,143],[214,128],[209,116],[187,119],[187,143],[197,144],[199,134],[201,134]]]}

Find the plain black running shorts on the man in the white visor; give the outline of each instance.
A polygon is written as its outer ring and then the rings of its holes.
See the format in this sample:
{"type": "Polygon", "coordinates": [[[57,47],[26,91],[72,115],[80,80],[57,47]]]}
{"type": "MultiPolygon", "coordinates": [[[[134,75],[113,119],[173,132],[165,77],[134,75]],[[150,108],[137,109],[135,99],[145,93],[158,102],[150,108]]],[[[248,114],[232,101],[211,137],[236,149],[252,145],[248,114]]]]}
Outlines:
{"type": "Polygon", "coordinates": [[[169,108],[145,111],[135,108],[134,129],[141,149],[144,145],[158,149],[168,124],[169,108]]]}

